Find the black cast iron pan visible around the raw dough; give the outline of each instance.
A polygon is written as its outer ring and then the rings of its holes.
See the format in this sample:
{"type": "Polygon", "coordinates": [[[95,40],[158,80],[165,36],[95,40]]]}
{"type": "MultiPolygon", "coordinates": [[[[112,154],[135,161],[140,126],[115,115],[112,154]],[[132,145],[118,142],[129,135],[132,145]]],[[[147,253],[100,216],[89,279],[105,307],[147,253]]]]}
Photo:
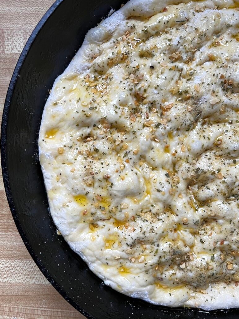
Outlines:
{"type": "Polygon", "coordinates": [[[120,294],[105,286],[56,234],[38,159],[42,111],[55,78],[80,48],[86,32],[121,3],[58,0],[27,41],[9,85],[1,129],[3,179],[12,216],[40,270],[87,318],[238,319],[238,309],[172,309],[120,294]]]}

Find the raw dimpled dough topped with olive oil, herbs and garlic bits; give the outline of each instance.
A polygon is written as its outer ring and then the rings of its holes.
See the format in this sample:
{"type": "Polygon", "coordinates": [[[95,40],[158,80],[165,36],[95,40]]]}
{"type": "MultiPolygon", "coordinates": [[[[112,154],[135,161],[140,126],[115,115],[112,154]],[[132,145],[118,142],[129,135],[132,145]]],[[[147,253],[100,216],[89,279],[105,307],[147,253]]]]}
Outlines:
{"type": "Polygon", "coordinates": [[[238,26],[232,0],[131,0],[55,80],[39,136],[51,215],[122,293],[239,307],[238,26]]]}

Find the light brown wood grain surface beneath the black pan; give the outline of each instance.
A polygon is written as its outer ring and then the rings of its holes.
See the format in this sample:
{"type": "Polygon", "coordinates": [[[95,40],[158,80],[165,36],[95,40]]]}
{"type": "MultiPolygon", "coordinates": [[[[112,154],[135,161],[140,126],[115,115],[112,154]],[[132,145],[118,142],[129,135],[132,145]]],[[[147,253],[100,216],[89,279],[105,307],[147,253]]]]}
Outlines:
{"type": "MultiPolygon", "coordinates": [[[[0,116],[18,57],[54,0],[0,0],[0,116]]],[[[0,318],[85,318],[49,284],[26,250],[0,176],[0,318]]]]}

